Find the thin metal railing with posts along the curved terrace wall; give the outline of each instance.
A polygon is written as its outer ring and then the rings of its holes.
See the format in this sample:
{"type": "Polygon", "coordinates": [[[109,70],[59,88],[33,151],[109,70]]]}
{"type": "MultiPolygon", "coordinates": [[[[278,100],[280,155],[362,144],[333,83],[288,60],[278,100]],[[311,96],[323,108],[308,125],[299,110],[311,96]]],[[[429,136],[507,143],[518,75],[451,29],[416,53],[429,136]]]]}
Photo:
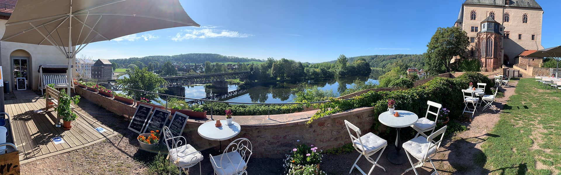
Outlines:
{"type": "MultiPolygon", "coordinates": [[[[197,100],[198,102],[210,103],[210,119],[213,119],[213,120],[214,120],[214,118],[213,118],[213,115],[214,115],[214,105],[213,105],[213,103],[265,105],[265,106],[268,106],[268,108],[267,108],[267,119],[270,119],[270,113],[271,113],[270,106],[271,105],[293,105],[293,104],[304,105],[303,103],[249,103],[249,102],[224,102],[224,101],[218,101],[218,100],[196,99],[196,98],[188,98],[188,97],[185,97],[185,96],[175,96],[175,95],[160,94],[160,93],[154,93],[154,92],[138,90],[138,89],[131,89],[131,88],[126,88],[126,87],[119,86],[119,85],[112,85],[112,84],[107,84],[107,83],[104,83],[104,82],[99,82],[99,81],[94,81],[94,80],[89,80],[89,79],[83,79],[83,78],[80,78],[80,77],[74,77],[74,78],[75,79],[80,79],[82,81],[93,82],[93,83],[98,84],[98,85],[108,86],[108,87],[111,87],[112,90],[114,90],[114,89],[117,89],[117,90],[132,90],[134,92],[138,92],[138,93],[141,93],[141,94],[155,94],[155,95],[158,95],[160,97],[160,99],[164,100],[164,102],[165,102],[165,110],[169,109],[168,100],[171,99],[171,98],[183,99],[183,100],[197,100]]],[[[135,94],[135,96],[133,96],[133,98],[134,98],[134,102],[133,102],[134,104],[133,105],[136,105],[136,103],[137,103],[136,102],[136,99],[137,99],[136,94],[137,93],[134,93],[134,94],[135,94]]],[[[344,100],[351,100],[351,98],[350,99],[344,99],[344,100]]],[[[310,104],[325,103],[325,102],[328,102],[328,100],[320,101],[320,102],[310,102],[310,104]]]]}

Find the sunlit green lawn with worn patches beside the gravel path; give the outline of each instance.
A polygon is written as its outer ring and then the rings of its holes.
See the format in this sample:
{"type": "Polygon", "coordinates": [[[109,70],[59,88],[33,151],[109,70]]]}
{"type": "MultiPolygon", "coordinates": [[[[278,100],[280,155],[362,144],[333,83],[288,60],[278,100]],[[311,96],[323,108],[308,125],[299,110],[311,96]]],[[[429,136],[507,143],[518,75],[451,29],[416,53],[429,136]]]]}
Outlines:
{"type": "Polygon", "coordinates": [[[491,174],[561,174],[561,92],[521,79],[491,131],[482,160],[491,174]]]}

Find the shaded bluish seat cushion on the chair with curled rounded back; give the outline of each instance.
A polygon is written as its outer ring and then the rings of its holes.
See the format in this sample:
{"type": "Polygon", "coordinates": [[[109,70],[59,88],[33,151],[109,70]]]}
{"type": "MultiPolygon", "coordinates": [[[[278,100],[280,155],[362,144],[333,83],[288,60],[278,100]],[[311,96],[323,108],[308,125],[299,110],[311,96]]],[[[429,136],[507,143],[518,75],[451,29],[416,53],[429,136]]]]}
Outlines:
{"type": "Polygon", "coordinates": [[[220,156],[222,156],[222,154],[212,156],[213,159],[210,159],[210,163],[214,168],[214,172],[216,172],[218,175],[237,174],[238,172],[241,172],[246,168],[247,164],[245,160],[242,159],[242,156],[240,155],[240,153],[238,153],[238,151],[232,151],[225,154],[226,155],[224,155],[222,160],[220,160],[220,156]],[[220,161],[222,161],[222,164],[220,164],[220,161]]]}

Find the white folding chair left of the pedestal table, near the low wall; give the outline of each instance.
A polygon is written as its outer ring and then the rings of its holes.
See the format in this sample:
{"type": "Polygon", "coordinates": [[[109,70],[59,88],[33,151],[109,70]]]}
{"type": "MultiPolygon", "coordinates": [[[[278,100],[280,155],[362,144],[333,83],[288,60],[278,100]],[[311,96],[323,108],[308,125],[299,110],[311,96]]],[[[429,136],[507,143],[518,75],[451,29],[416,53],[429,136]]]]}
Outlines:
{"type": "Polygon", "coordinates": [[[352,170],[356,167],[356,169],[358,169],[358,171],[360,171],[362,174],[367,175],[356,164],[358,162],[358,159],[360,159],[362,156],[364,156],[366,160],[368,160],[368,162],[373,164],[368,174],[372,173],[374,167],[376,166],[384,169],[385,172],[385,168],[378,164],[378,160],[380,159],[382,153],[384,153],[384,149],[386,148],[386,146],[388,146],[388,141],[376,136],[372,132],[366,133],[364,136],[360,136],[360,128],[352,125],[352,123],[347,120],[345,120],[345,126],[347,127],[347,131],[349,132],[349,136],[351,136],[352,146],[356,149],[356,151],[358,151],[358,153],[360,153],[360,155],[358,155],[358,158],[356,158],[355,160],[355,164],[352,165],[351,171],[349,171],[349,173],[351,173],[352,170]],[[353,133],[351,132],[351,130],[355,132],[353,133]],[[370,158],[370,156],[376,154],[379,150],[381,151],[376,160],[370,158]]]}

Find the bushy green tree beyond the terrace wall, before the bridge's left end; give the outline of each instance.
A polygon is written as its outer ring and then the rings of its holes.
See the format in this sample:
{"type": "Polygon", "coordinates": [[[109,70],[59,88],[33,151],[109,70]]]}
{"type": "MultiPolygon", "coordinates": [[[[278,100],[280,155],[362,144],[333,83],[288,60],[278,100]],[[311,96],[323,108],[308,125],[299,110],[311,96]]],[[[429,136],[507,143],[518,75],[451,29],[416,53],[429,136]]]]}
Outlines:
{"type": "MultiPolygon", "coordinates": [[[[160,88],[160,85],[163,85],[165,83],[165,80],[162,77],[158,77],[158,75],[149,72],[147,68],[140,69],[138,67],[134,67],[131,70],[127,70],[127,73],[128,77],[117,80],[117,83],[119,85],[131,89],[144,90],[153,93],[159,93],[163,91],[163,89],[160,88]]],[[[141,93],[140,91],[128,89],[125,89],[123,91],[125,91],[127,95],[135,98],[135,100],[140,100],[141,97],[151,100],[155,100],[158,98],[157,95],[151,93],[141,93]]]]}

